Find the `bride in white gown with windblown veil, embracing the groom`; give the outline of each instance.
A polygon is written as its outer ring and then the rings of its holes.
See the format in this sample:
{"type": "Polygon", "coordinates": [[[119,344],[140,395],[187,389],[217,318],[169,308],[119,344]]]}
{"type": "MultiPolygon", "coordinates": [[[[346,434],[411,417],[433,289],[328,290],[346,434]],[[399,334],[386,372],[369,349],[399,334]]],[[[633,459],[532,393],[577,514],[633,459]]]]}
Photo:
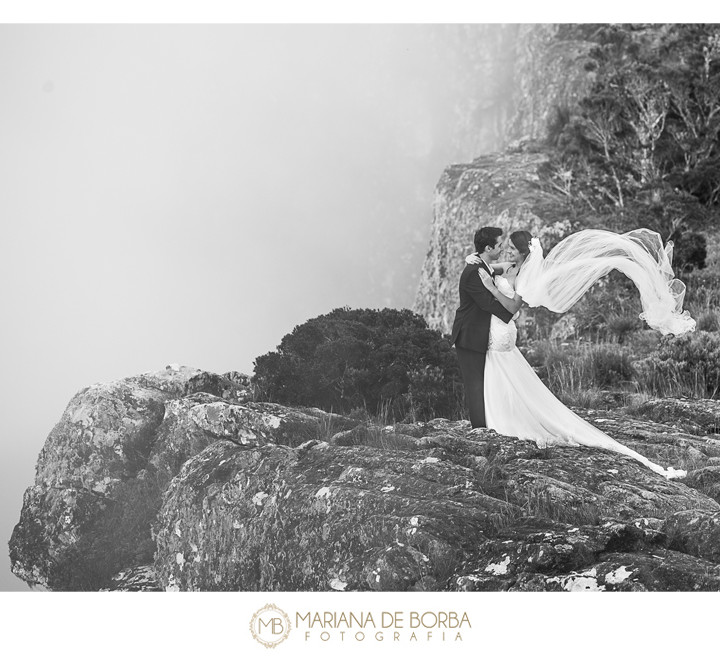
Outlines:
{"type": "MultiPolygon", "coordinates": [[[[510,235],[510,262],[496,263],[495,281],[482,268],[485,287],[511,313],[523,302],[567,311],[600,277],[612,269],[628,275],[640,291],[643,318],[662,333],[692,331],[695,321],[681,312],[684,284],[672,279],[672,245],[662,247],[657,233],[640,229],[623,235],[609,231],[580,231],[561,241],[543,257],[537,238],[527,231],[510,235]]],[[[466,258],[477,264],[479,258],[466,258]]],[[[584,421],[558,400],[535,374],[516,346],[517,327],[492,316],[485,364],[487,426],[500,434],[549,445],[604,448],[642,462],[666,478],[685,477],[685,471],[663,468],[618,443],[584,421]]]]}

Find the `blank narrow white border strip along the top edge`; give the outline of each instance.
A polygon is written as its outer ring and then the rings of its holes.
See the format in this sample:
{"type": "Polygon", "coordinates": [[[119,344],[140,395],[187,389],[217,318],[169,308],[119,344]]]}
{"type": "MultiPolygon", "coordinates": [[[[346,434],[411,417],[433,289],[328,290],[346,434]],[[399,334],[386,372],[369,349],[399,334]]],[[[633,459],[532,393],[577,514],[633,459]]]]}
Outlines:
{"type": "Polygon", "coordinates": [[[0,23],[717,22],[717,3],[605,0],[0,0],[0,23]]]}

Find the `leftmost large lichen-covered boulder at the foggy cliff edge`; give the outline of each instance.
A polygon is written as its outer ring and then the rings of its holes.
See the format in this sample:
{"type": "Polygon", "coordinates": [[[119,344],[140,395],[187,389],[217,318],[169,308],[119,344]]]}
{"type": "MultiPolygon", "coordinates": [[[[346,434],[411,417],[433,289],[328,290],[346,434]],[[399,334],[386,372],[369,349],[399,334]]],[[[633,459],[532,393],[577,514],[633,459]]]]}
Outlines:
{"type": "Polygon", "coordinates": [[[25,492],[10,539],[13,572],[33,586],[97,589],[122,568],[151,561],[150,522],[167,481],[148,460],[157,455],[166,407],[217,381],[168,366],[77,393],[25,492]]]}

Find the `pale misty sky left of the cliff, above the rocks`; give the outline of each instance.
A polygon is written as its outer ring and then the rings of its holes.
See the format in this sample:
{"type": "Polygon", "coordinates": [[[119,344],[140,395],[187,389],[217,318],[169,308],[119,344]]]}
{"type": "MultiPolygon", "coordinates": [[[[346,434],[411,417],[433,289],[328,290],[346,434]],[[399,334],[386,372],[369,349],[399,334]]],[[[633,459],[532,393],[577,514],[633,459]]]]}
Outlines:
{"type": "Polygon", "coordinates": [[[0,26],[0,589],[77,390],[251,373],[311,317],[412,305],[462,159],[438,29],[0,26]]]}

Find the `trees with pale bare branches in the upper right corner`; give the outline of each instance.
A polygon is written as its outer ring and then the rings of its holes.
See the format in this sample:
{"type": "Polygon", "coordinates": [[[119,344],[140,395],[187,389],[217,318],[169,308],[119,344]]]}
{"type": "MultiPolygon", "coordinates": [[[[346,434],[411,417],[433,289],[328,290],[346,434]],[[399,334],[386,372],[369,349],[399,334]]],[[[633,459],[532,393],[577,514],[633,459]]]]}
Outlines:
{"type": "MultiPolygon", "coordinates": [[[[592,93],[549,131],[549,184],[621,223],[638,205],[673,205],[667,232],[707,219],[720,203],[720,26],[590,26],[592,93]],[[693,206],[702,206],[703,213],[693,206]]],[[[695,224],[695,228],[697,228],[695,224]]]]}

